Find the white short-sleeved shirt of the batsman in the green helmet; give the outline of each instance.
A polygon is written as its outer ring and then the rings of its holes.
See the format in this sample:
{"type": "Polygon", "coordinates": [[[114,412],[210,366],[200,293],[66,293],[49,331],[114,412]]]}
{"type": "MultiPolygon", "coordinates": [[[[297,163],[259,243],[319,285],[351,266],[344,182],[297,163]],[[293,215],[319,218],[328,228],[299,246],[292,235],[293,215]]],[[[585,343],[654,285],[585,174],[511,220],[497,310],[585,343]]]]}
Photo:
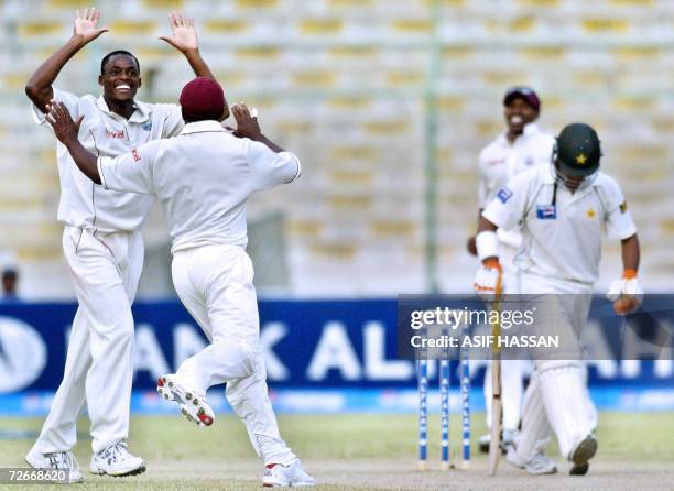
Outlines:
{"type": "Polygon", "coordinates": [[[497,227],[520,226],[519,270],[539,276],[591,285],[599,275],[601,233],[627,239],[637,227],[615,179],[599,173],[591,186],[572,194],[557,184],[554,170],[541,165],[513,177],[482,216],[497,227]]]}

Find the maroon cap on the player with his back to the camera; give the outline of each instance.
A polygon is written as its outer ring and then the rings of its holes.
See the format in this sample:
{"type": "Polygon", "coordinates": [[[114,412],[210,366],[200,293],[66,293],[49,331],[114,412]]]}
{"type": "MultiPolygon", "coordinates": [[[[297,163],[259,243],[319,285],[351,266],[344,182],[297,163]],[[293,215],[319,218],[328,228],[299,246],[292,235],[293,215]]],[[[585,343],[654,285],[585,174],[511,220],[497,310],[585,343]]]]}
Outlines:
{"type": "Polygon", "coordinates": [[[186,121],[219,121],[225,112],[225,91],[213,78],[196,77],[183,87],[180,102],[186,121]]]}

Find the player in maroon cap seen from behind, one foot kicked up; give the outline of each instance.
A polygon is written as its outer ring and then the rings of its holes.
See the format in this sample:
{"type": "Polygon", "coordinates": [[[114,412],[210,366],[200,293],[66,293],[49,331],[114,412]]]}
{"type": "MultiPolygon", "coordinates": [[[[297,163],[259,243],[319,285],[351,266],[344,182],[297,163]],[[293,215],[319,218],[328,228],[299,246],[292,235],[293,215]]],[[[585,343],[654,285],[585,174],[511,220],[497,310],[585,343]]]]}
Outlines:
{"type": "Polygon", "coordinates": [[[236,132],[224,129],[218,120],[225,96],[213,79],[192,80],[180,102],[186,124],[177,137],[117,159],[87,151],[77,140],[81,117],[74,123],[63,105],[55,103],[48,119],[89,178],[106,189],[153,195],[164,208],[175,290],[211,343],[175,374],[161,377],[160,394],[176,402],[188,421],[210,426],[215,414],[206,391],[227,383],[227,400],[264,460],[264,485],[312,485],[281,439],[268,396],[253,269],[246,253],[248,197],[296,179],[300,161],[268,140],[243,105],[233,108],[236,132]]]}

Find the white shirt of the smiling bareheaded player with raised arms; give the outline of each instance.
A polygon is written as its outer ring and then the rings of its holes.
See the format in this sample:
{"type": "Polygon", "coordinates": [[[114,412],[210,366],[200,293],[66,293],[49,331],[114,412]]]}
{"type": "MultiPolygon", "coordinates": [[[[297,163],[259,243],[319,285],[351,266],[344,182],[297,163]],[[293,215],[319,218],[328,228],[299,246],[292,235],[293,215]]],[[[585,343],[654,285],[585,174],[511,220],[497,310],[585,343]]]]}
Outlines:
{"type": "MultiPolygon", "coordinates": [[[[135,111],[127,120],[111,112],[102,96],[78,97],[54,88],[54,100],[63,102],[74,120],[84,114],[79,141],[99,156],[115,157],[151,140],[172,137],[184,124],[181,107],[176,105],[149,105],[137,100],[135,111]]],[[[33,117],[36,123],[52,130],[35,106],[33,117]]],[[[61,178],[59,221],[101,232],[140,230],[152,208],[152,197],[96,186],[58,141],[56,156],[61,178]]]]}

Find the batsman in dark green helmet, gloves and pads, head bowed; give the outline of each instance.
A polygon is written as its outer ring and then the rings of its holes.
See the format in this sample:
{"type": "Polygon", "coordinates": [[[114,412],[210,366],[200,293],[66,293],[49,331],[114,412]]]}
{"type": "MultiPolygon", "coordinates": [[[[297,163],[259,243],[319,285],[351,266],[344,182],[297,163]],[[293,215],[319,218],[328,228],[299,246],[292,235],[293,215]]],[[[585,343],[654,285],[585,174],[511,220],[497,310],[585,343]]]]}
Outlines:
{"type": "MultiPolygon", "coordinates": [[[[557,138],[550,166],[513,177],[482,212],[477,250],[482,268],[478,293],[494,293],[501,277],[497,230],[520,223],[523,244],[515,258],[520,292],[551,294],[559,332],[580,332],[587,323],[593,285],[598,277],[601,233],[621,241],[623,275],[608,297],[620,315],[634,310],[643,291],[637,280],[639,240],[620,187],[599,172],[601,150],[595,130],[569,124],[557,138]]],[[[551,429],[561,454],[573,462],[572,474],[585,474],[597,450],[586,404],[580,351],[569,360],[535,360],[524,396],[522,429],[508,460],[530,473],[553,473],[543,454],[551,429]],[[577,354],[577,357],[576,357],[577,354]]]]}

